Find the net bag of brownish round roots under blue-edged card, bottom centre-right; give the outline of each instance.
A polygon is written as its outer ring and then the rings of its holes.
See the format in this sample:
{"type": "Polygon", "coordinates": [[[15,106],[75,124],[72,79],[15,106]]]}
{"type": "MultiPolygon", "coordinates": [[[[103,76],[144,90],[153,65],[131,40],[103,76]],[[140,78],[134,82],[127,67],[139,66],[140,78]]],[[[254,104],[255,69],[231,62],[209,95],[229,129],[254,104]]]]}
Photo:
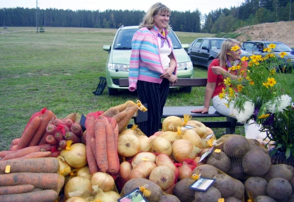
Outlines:
{"type": "Polygon", "coordinates": [[[188,188],[195,179],[185,178],[177,182],[173,192],[181,201],[210,201],[217,202],[219,198],[225,201],[235,199],[235,201],[244,201],[245,188],[241,181],[230,177],[218,170],[216,167],[205,164],[197,166],[193,174],[200,177],[216,179],[215,183],[208,188],[206,192],[196,191],[188,188]]]}

